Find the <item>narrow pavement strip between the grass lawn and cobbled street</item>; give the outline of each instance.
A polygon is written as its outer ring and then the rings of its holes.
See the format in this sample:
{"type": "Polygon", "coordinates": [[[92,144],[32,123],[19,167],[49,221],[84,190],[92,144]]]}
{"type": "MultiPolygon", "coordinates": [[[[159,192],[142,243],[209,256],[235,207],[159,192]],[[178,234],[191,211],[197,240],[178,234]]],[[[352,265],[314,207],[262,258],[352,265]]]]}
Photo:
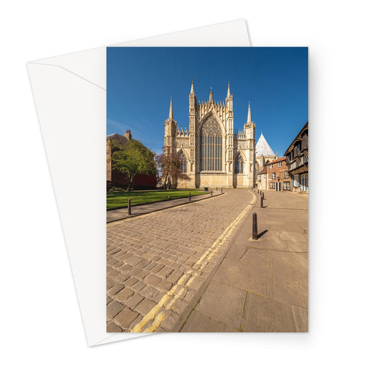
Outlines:
{"type": "MultiPolygon", "coordinates": [[[[221,194],[221,188],[219,188],[219,190],[213,189],[212,194],[209,192],[207,194],[195,195],[194,197],[191,197],[191,201],[208,199],[210,197],[216,197],[220,194],[221,194]]],[[[155,203],[132,205],[131,216],[139,216],[141,214],[156,212],[157,210],[164,210],[170,207],[176,207],[177,205],[184,205],[188,203],[190,203],[189,198],[179,198],[179,199],[171,199],[164,201],[156,201],[155,203]]],[[[130,218],[131,216],[128,215],[127,207],[108,210],[106,212],[106,222],[111,223],[119,221],[121,219],[130,218]]]]}

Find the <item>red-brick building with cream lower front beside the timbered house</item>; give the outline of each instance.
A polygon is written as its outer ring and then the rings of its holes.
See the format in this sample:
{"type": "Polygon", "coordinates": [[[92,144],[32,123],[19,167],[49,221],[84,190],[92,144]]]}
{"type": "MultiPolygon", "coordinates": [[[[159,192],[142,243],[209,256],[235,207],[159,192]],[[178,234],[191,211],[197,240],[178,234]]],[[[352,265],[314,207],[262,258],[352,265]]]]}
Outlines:
{"type": "Polygon", "coordinates": [[[257,174],[257,189],[292,191],[292,178],[285,157],[266,163],[262,171],[257,174]]]}

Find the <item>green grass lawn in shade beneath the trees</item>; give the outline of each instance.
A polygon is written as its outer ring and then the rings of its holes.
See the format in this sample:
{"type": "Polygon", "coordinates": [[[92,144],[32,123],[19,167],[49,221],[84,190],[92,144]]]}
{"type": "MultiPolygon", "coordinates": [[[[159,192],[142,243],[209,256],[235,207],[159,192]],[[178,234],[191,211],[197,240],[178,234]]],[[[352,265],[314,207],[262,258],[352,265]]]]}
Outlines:
{"type": "Polygon", "coordinates": [[[151,203],[153,201],[167,200],[170,195],[171,199],[184,198],[189,196],[210,194],[203,190],[136,190],[136,191],[118,191],[106,193],[106,208],[115,209],[127,207],[128,199],[131,199],[131,205],[151,203]]]}

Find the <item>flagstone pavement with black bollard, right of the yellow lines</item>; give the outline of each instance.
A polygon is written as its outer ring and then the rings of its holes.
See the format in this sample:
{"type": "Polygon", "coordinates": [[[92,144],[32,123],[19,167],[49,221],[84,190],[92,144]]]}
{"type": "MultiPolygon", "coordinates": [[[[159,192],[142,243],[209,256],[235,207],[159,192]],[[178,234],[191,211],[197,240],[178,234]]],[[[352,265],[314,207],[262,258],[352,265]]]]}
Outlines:
{"type": "Polygon", "coordinates": [[[250,216],[181,331],[307,331],[308,198],[264,195],[264,208],[259,199],[254,209],[259,240],[250,216]]]}

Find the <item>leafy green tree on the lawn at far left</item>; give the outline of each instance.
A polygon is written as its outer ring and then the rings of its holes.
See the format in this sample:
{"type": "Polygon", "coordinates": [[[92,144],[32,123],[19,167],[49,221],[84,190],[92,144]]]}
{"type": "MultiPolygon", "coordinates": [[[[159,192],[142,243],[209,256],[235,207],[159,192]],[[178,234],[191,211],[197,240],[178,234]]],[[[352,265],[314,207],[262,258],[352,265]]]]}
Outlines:
{"type": "Polygon", "coordinates": [[[154,153],[138,140],[129,140],[127,144],[121,147],[117,144],[111,144],[110,147],[112,150],[112,168],[127,176],[128,191],[131,190],[137,174],[151,175],[156,173],[154,153]]]}

